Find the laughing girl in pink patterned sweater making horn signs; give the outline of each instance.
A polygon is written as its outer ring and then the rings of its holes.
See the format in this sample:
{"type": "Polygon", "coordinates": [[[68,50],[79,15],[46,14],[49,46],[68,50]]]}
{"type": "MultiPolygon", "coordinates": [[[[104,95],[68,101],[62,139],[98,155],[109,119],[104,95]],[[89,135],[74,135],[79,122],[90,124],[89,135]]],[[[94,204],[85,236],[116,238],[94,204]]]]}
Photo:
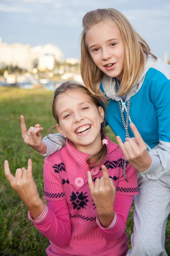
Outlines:
{"type": "MultiPolygon", "coordinates": [[[[48,256],[126,255],[125,226],[137,194],[137,171],[127,163],[123,173],[123,153],[105,135],[101,99],[69,81],[54,92],[53,116],[67,140],[44,161],[48,206],[37,192],[31,160],[15,177],[5,161],[6,178],[28,208],[29,219],[50,240],[48,256]]],[[[139,138],[136,127],[131,128],[139,138]]]]}

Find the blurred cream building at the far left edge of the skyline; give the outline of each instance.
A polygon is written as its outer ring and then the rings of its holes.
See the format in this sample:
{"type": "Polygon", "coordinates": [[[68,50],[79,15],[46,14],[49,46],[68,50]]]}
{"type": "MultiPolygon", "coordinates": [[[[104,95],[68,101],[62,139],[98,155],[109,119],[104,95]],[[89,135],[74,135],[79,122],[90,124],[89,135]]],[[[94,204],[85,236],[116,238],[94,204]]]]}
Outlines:
{"type": "Polygon", "coordinates": [[[31,70],[31,46],[2,43],[0,38],[0,66],[9,65],[31,70]]]}

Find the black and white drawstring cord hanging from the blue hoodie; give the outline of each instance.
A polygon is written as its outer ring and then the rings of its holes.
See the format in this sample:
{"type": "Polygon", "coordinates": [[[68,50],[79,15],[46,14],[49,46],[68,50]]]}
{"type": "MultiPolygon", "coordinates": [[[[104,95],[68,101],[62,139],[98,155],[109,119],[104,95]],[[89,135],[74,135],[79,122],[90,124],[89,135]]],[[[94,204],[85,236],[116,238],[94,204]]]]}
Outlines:
{"type": "MultiPolygon", "coordinates": [[[[123,126],[124,126],[124,128],[125,128],[125,132],[126,132],[126,137],[127,137],[127,138],[130,138],[129,132],[128,132],[129,111],[130,111],[130,99],[128,99],[128,101],[127,101],[126,122],[125,122],[124,115],[123,115],[124,108],[122,108],[121,101],[119,101],[119,108],[120,108],[120,113],[121,113],[121,117],[122,117],[122,123],[123,123],[123,126]]],[[[126,162],[126,159],[124,158],[123,177],[124,177],[125,180],[128,182],[128,180],[127,180],[127,178],[126,178],[126,166],[127,166],[127,162],[126,162]]]]}

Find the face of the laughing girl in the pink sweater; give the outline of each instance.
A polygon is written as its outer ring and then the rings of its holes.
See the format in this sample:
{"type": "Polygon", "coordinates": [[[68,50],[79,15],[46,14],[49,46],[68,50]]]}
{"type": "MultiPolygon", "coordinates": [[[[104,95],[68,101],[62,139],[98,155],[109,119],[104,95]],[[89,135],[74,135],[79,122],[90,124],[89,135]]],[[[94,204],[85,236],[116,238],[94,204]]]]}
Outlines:
{"type": "Polygon", "coordinates": [[[74,146],[87,154],[95,154],[102,147],[102,107],[96,108],[90,97],[80,90],[68,90],[56,102],[59,119],[57,130],[74,146]]]}

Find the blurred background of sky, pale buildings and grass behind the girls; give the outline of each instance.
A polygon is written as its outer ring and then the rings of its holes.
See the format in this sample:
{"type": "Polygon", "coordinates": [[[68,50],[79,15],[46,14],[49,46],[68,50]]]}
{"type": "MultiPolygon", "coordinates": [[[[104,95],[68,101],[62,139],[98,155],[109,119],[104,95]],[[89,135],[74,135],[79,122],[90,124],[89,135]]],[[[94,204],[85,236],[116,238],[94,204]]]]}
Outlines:
{"type": "MultiPolygon", "coordinates": [[[[33,160],[33,175],[43,198],[43,160],[25,145],[20,115],[27,128],[42,125],[42,137],[54,125],[53,93],[62,81],[80,76],[82,17],[97,8],[115,8],[132,23],[151,51],[170,64],[169,0],[0,0],[0,255],[45,256],[45,239],[27,218],[27,210],[4,176],[33,160]]],[[[108,135],[115,135],[108,128],[108,135]]],[[[148,195],[149,196],[149,195],[148,195]]],[[[133,207],[126,233],[133,233],[133,207]]],[[[170,219],[166,250],[170,255],[170,219]]]]}

